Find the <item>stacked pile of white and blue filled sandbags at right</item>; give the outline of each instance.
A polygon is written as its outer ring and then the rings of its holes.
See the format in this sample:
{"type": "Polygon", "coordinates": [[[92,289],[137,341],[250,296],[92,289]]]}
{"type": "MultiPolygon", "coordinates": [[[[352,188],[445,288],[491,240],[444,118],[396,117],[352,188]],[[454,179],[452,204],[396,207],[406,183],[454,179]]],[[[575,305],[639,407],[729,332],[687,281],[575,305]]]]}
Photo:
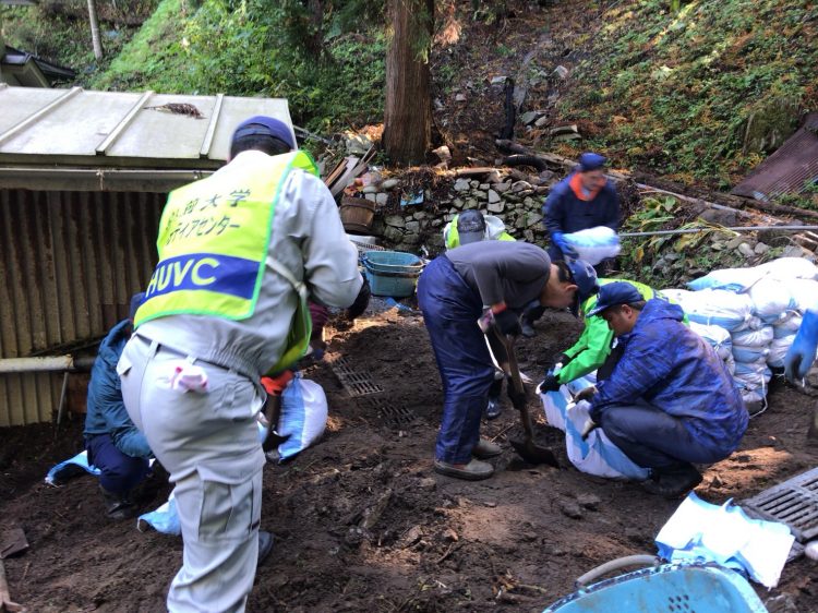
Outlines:
{"type": "Polygon", "coordinates": [[[760,410],[770,366],[784,365],[804,312],[818,309],[818,268],[801,257],[781,257],[753,268],[713,271],[687,286],[693,291],[662,293],[684,309],[690,327],[727,363],[750,412],[760,410]],[[732,364],[724,356],[724,334],[732,364]]]}

